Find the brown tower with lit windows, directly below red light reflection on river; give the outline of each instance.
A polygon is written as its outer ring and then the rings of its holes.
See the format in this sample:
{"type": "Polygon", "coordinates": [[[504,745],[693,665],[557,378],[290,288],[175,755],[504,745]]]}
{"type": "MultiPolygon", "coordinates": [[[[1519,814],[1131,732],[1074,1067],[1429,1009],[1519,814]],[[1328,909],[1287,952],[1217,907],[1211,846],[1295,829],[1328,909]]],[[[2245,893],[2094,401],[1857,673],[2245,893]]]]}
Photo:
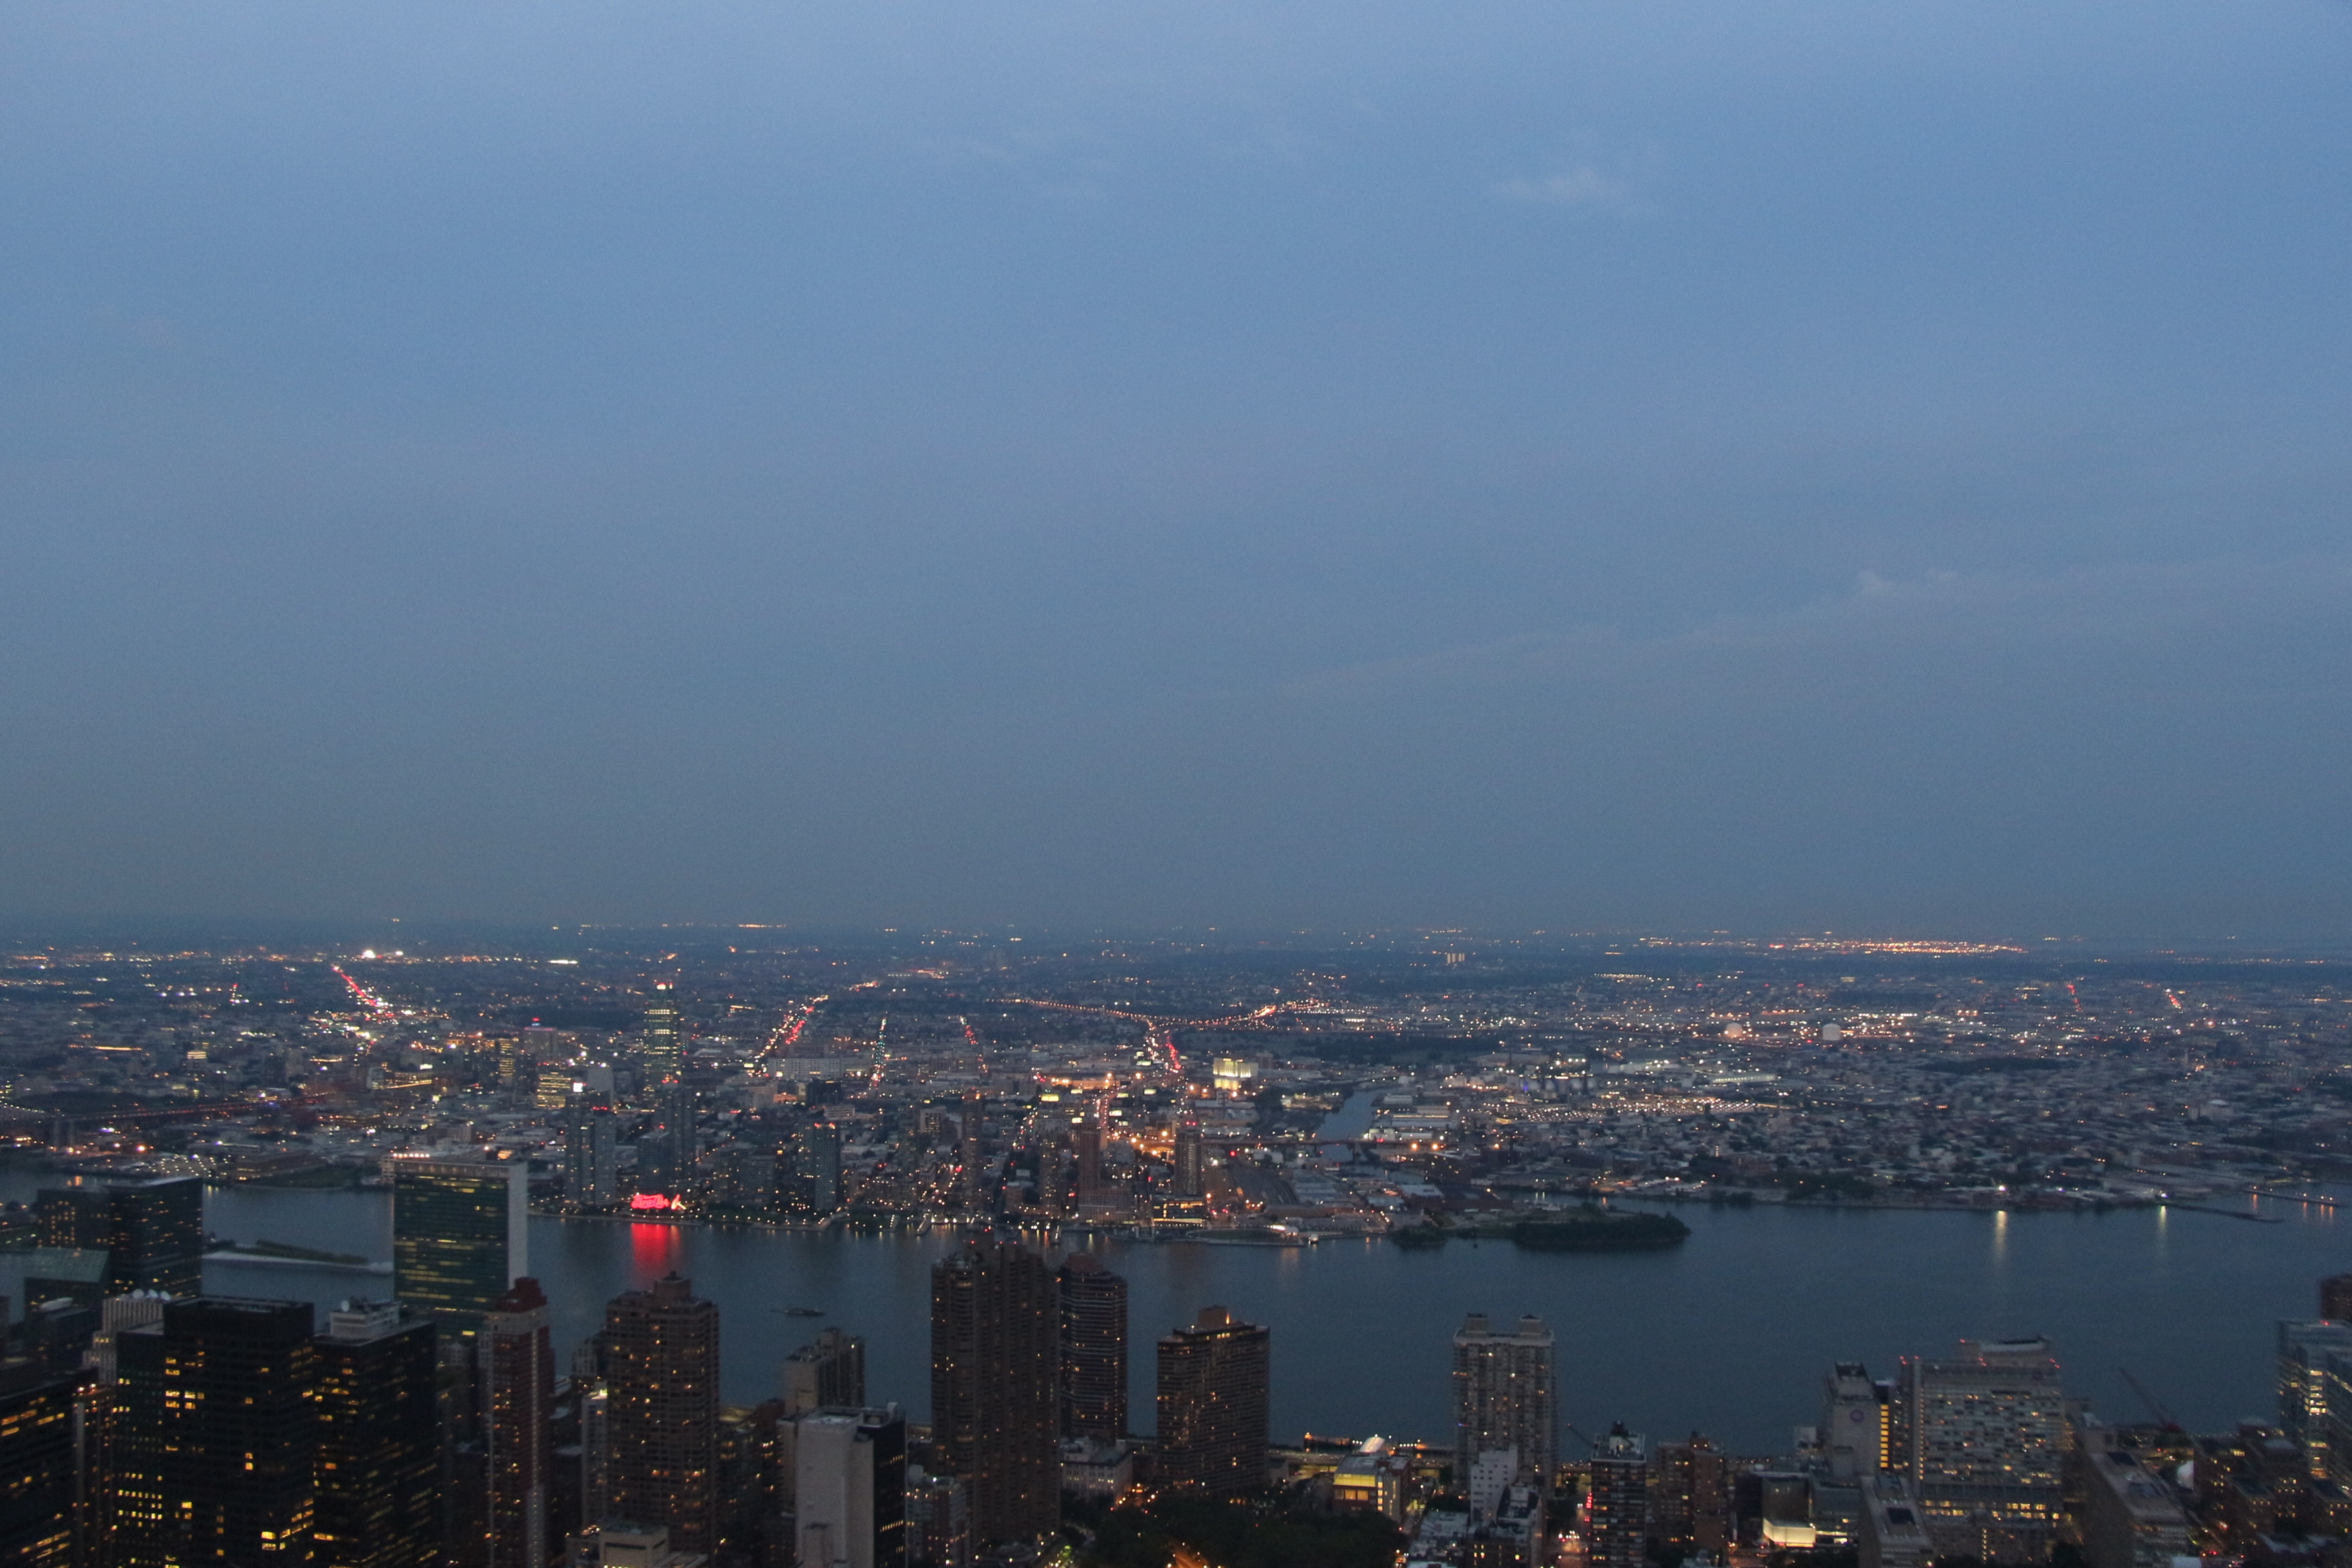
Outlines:
{"type": "Polygon", "coordinates": [[[720,1309],[677,1274],[604,1307],[604,1450],[614,1519],[668,1526],[680,1552],[717,1540],[720,1309]]]}

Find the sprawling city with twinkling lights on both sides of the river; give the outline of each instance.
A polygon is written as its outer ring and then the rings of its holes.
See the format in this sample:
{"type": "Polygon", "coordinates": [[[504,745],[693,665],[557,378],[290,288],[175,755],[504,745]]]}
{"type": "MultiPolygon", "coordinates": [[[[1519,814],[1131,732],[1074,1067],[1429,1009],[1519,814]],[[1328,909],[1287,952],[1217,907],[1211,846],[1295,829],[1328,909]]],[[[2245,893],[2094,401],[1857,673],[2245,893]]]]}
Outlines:
{"type": "MultiPolygon", "coordinates": [[[[397,926],[390,926],[397,931],[397,926]]],[[[1790,1453],[1583,1434],[1468,1319],[1451,1434],[1282,1439],[1223,1305],[1150,1347],[1094,1237],[1677,1246],[1679,1204],[2326,1201],[2340,966],[1837,936],[1070,940],[550,929],[33,945],[0,969],[0,1552],[26,1563],[2343,1568],[2352,1281],[2272,1425],[2107,1425],[2039,1340],[1823,1368],[1790,1453]],[[383,1187],[383,1300],[205,1295],[207,1185],[383,1187]],[[720,1401],[717,1307],[550,1342],[524,1218],[948,1227],[931,1410],[823,1328],[720,1401]],[[520,1265],[520,1267],[517,1267],[520,1265]]],[[[254,1269],[256,1274],[263,1269],[254,1269]]],[[[811,1326],[814,1328],[814,1326],[811,1326]]]]}

